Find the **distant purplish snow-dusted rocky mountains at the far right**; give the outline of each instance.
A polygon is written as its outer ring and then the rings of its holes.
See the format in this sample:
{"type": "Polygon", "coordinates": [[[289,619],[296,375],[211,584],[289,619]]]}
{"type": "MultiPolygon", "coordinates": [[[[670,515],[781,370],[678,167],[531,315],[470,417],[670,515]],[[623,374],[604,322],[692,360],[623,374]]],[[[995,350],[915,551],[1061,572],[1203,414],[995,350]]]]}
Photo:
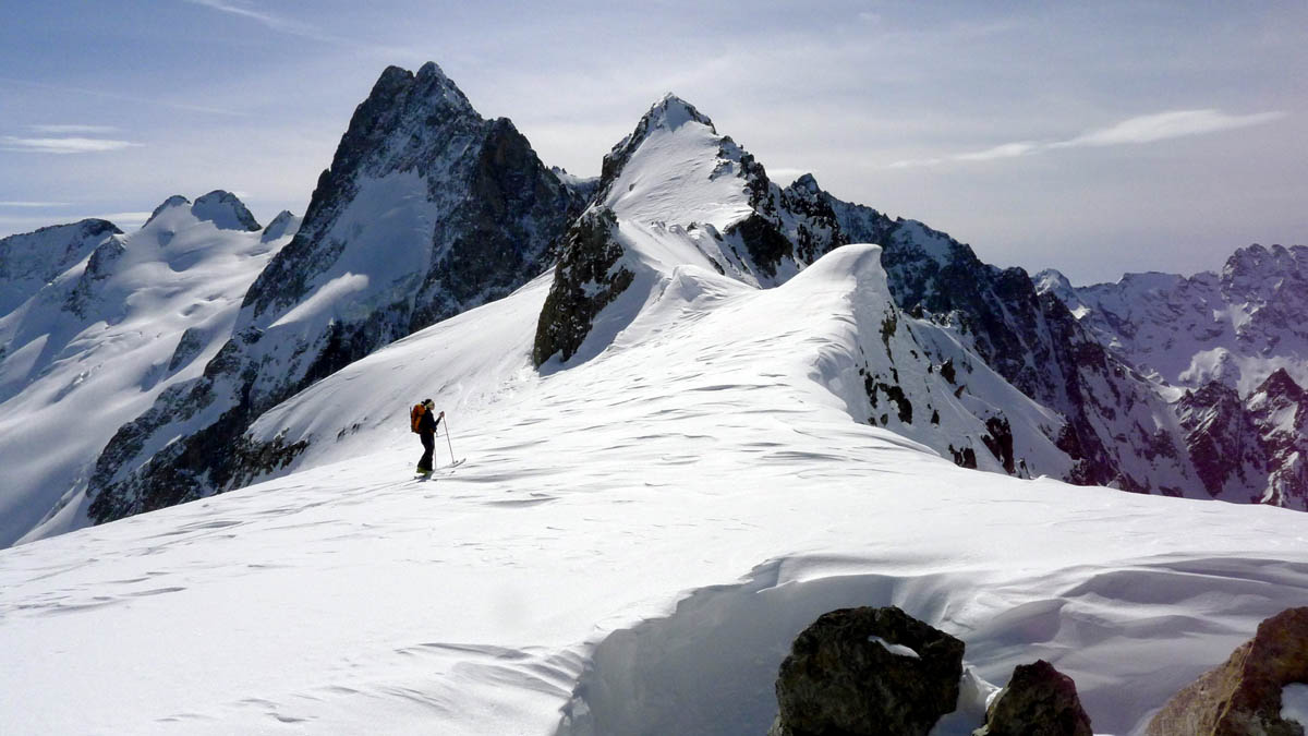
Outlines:
{"type": "Polygon", "coordinates": [[[1308,508],[1305,432],[1308,248],[1237,250],[1219,274],[1126,274],[1073,287],[1036,278],[1122,363],[1152,376],[1172,405],[1198,481],[1213,498],[1308,508]],[[1296,380],[1295,376],[1300,376],[1296,380]],[[1298,424],[1296,424],[1298,423],[1298,424]]]}

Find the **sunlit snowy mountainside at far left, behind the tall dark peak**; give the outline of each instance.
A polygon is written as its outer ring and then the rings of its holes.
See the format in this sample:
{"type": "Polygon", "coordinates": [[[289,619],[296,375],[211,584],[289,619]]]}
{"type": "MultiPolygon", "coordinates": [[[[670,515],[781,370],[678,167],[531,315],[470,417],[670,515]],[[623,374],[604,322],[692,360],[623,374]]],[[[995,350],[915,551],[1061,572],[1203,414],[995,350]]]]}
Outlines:
{"type": "Polygon", "coordinates": [[[0,317],[0,546],[89,524],[95,456],[162,392],[200,375],[294,234],[286,224],[263,238],[229,193],[170,198],[144,228],[106,237],[0,317]]]}

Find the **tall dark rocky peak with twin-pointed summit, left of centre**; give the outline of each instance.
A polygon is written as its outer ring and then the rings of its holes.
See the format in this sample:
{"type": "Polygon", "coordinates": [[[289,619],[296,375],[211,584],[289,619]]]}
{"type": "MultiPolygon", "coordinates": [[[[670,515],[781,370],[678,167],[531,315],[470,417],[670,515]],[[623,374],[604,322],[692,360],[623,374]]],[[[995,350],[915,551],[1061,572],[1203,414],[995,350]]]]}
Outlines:
{"type": "Polygon", "coordinates": [[[93,519],[222,491],[269,457],[289,460],[293,449],[241,443],[259,414],[526,283],[549,266],[581,206],[511,122],[481,118],[436,64],[387,68],[319,177],[298,234],[246,293],[232,339],[201,377],[105,448],[93,519]]]}

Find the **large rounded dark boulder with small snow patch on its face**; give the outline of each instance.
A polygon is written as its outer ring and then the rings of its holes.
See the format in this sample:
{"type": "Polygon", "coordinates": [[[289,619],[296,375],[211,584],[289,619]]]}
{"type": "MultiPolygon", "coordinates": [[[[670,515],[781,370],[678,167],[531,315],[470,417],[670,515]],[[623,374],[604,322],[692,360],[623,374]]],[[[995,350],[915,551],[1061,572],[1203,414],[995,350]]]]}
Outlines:
{"type": "Polygon", "coordinates": [[[961,674],[963,642],[903,610],[833,610],[782,661],[769,736],[925,736],[954,711],[961,674]]]}

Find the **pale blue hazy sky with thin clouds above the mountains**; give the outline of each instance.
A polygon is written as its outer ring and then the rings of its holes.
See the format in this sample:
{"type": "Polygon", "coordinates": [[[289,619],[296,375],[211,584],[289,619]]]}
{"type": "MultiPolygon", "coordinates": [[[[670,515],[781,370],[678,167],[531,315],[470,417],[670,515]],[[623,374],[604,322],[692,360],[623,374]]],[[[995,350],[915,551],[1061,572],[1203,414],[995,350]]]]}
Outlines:
{"type": "Polygon", "coordinates": [[[596,174],[664,92],[778,182],[1074,282],[1308,244],[1308,4],[10,3],[0,234],[171,194],[303,212],[387,64],[596,174]]]}

